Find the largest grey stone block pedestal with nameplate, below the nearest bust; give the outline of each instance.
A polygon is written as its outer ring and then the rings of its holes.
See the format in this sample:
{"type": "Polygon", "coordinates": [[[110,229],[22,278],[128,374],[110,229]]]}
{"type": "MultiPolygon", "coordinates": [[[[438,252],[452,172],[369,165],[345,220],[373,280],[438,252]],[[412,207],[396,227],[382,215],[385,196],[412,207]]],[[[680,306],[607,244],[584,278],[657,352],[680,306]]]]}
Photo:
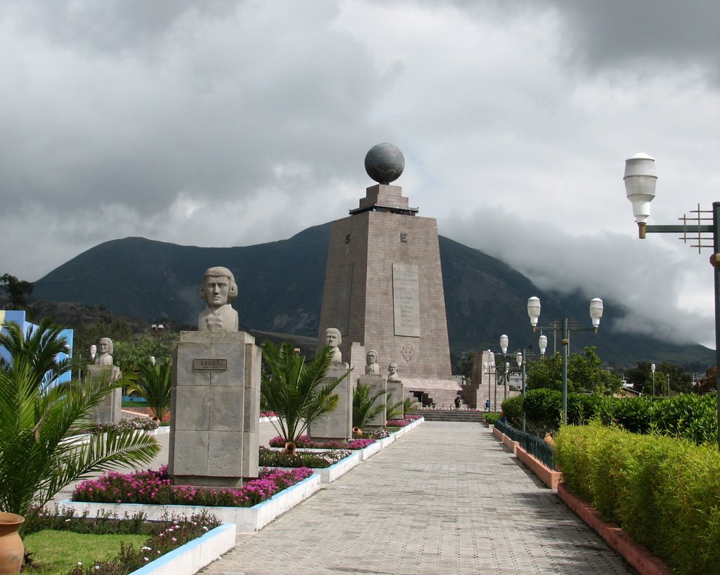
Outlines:
{"type": "Polygon", "coordinates": [[[173,358],[168,473],[176,485],[258,476],[261,351],[246,332],[181,332],[173,358]]]}

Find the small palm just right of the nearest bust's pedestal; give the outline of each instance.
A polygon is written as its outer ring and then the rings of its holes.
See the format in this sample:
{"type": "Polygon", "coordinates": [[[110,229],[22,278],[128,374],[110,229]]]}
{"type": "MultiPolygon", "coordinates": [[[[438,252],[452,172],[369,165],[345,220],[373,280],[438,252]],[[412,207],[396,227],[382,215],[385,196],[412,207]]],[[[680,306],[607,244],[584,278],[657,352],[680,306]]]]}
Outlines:
{"type": "Polygon", "coordinates": [[[310,361],[297,355],[291,343],[277,348],[269,340],[262,345],[266,369],[261,378],[261,392],[266,406],[278,416],[277,432],[286,442],[294,442],[313,421],[333,411],[338,405],[338,379],[325,380],[333,353],[325,346],[310,361]]]}

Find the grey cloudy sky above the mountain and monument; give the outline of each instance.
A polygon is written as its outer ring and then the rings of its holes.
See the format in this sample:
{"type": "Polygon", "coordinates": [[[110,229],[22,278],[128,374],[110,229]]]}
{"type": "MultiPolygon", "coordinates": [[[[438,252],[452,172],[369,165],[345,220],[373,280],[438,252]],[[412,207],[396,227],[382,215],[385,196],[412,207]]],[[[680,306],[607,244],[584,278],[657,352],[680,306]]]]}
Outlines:
{"type": "Polygon", "coordinates": [[[622,176],[657,159],[650,224],[720,200],[716,0],[0,8],[0,273],[284,239],[357,207],[392,142],[442,235],[714,347],[710,250],[638,240],[622,176]]]}

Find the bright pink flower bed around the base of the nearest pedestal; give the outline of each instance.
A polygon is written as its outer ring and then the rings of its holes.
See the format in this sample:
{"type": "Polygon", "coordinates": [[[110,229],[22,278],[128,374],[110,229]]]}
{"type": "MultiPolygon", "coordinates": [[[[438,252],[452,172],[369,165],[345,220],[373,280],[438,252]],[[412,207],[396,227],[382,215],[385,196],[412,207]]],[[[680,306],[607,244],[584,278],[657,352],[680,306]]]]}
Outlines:
{"type": "Polygon", "coordinates": [[[143,503],[158,505],[203,505],[207,507],[252,507],[312,475],[310,469],[261,469],[258,479],[238,489],[174,486],[168,466],[158,471],[121,474],[109,471],[98,479],[76,486],[73,501],[92,503],[143,503]]]}

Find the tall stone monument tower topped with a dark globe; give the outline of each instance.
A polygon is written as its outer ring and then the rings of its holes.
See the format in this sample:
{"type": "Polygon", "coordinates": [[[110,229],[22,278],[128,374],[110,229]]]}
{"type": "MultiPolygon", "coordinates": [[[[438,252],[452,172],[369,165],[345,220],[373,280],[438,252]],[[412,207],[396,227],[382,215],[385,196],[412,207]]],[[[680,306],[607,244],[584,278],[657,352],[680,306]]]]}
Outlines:
{"type": "Polygon", "coordinates": [[[394,145],[367,153],[365,169],[377,184],[349,217],[333,222],[318,337],[324,345],[325,330],[337,327],[343,357],[359,373],[364,350],[376,350],[383,373],[397,363],[406,396],[430,387],[438,390],[433,401],[450,402],[459,386],[449,381],[437,223],[418,217],[402,188],[390,185],[404,168],[394,145]],[[357,350],[352,357],[351,347],[357,350]],[[440,389],[449,392],[447,399],[440,389]]]}

